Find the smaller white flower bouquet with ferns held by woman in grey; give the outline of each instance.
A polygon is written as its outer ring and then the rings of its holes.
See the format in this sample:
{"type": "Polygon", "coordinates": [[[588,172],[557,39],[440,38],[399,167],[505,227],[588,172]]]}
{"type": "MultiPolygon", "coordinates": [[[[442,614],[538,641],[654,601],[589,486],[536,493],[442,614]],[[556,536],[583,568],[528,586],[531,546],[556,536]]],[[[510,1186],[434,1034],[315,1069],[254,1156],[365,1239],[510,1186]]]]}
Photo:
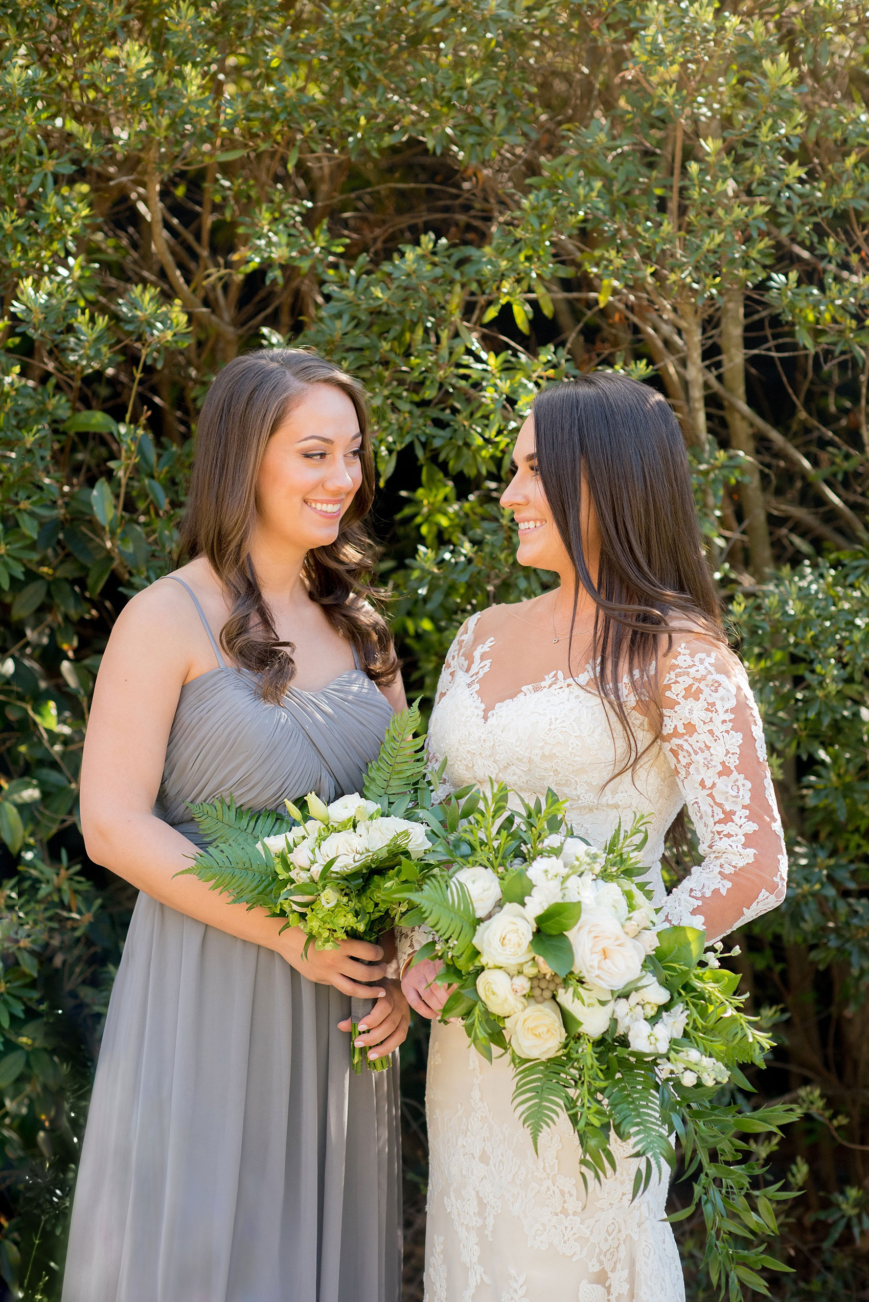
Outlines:
{"type": "MultiPolygon", "coordinates": [[[[403,815],[416,806],[423,783],[423,738],[415,737],[419,708],[395,715],[362,793],[324,803],[311,792],[284,811],[245,810],[232,796],[191,805],[206,838],[183,872],[224,892],[232,904],[264,907],[299,927],[304,950],[336,948],[345,939],[376,941],[406,911],[402,892],[419,884],[429,849],[424,824],[403,815]]],[[[353,1042],[372,1001],[350,1000],[351,1064],[362,1072],[389,1066],[369,1060],[353,1042]]]]}

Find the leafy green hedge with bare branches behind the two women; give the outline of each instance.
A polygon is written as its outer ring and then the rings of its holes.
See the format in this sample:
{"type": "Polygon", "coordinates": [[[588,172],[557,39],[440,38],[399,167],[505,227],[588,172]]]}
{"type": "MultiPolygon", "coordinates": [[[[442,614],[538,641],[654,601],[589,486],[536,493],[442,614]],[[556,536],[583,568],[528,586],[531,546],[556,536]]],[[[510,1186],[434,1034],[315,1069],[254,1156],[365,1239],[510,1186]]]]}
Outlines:
{"type": "MultiPolygon", "coordinates": [[[[59,1297],[131,906],[77,822],[124,602],[172,568],[196,411],[286,340],[371,388],[411,690],[519,572],[536,388],[615,367],[682,422],[791,848],[740,935],[805,1120],[777,1298],[869,1297],[869,46],[860,0],[0,0],[0,1276],[59,1297]]],[[[419,1298],[424,1038],[406,1048],[419,1298]]],[[[749,1105],[749,1104],[747,1104],[749,1105]]],[[[674,1185],[673,1207],[684,1203],[674,1185]]],[[[689,1292],[704,1228],[679,1226],[689,1292]]]]}

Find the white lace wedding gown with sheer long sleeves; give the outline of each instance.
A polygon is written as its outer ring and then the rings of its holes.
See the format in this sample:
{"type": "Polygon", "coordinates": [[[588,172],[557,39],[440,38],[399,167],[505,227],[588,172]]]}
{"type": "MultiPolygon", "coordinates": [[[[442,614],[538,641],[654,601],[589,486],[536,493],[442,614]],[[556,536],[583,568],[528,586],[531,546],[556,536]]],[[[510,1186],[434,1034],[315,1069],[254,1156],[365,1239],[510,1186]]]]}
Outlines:
{"type": "MultiPolygon", "coordinates": [[[[431,720],[432,758],[448,756],[451,788],[490,777],[524,797],[553,788],[574,829],[598,845],[619,818],[648,814],[658,905],[663,837],[687,803],[702,862],[666,897],[669,921],[714,939],[781,902],[787,858],[764,734],[729,650],[695,634],[676,639],[662,682],[663,740],[635,781],[627,772],[605,785],[622,743],[585,690],[589,676],[553,669],[516,687],[523,665],[533,672],[531,643],[550,638],[515,620],[505,635],[507,607],[483,615],[483,629],[474,616],[450,648],[431,720]]],[[[641,747],[648,724],[639,713],[632,723],[641,747]]],[[[423,939],[399,935],[399,957],[406,962],[423,939]]],[[[679,1255],[662,1223],[666,1182],[653,1180],[631,1202],[636,1164],[614,1141],[617,1173],[602,1185],[589,1180],[585,1194],[567,1122],[545,1131],[535,1154],[511,1092],[507,1059],[489,1065],[461,1025],[432,1025],[425,1302],[682,1302],[679,1255]]]]}

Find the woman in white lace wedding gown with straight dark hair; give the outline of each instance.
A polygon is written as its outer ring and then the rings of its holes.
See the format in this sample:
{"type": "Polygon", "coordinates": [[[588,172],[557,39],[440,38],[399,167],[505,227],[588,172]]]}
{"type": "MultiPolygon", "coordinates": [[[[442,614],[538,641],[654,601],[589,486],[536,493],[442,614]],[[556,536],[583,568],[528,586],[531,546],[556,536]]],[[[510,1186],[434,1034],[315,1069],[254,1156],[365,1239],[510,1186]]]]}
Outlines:
{"type": "MultiPolygon", "coordinates": [[[[667,402],[611,374],[546,389],[501,503],[519,564],[554,570],[561,586],[459,629],[429,729],[449,786],[493,777],[526,798],[553,788],[598,845],[619,819],[647,814],[654,902],[709,940],[773,909],[787,859],[764,733],[726,644],[667,402]],[[663,838],[674,820],[682,832],[686,805],[702,858],[667,896],[663,838]]],[[[423,940],[401,936],[403,988],[436,1018],[436,965],[407,966],[423,940]]],[[[511,1074],[459,1023],[432,1026],[427,1302],[680,1302],[666,1182],[631,1200],[636,1164],[614,1141],[615,1174],[587,1193],[563,1118],[535,1154],[511,1074]]]]}

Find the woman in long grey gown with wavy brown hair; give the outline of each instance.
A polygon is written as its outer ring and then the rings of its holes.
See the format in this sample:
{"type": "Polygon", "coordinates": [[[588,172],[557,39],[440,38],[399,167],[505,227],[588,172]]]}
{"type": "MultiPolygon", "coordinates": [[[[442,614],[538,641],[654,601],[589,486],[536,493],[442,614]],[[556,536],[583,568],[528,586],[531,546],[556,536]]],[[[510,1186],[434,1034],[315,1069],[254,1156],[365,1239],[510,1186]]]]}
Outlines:
{"type": "Polygon", "coordinates": [[[311,353],[235,358],[202,410],[181,546],[125,607],[96,682],[82,828],[140,894],[100,1051],[64,1302],[397,1302],[389,952],[310,949],[190,876],[187,805],[358,790],[405,694],[366,602],[362,387],[311,353]],[[363,984],[363,983],[373,984],[363,984]]]}

